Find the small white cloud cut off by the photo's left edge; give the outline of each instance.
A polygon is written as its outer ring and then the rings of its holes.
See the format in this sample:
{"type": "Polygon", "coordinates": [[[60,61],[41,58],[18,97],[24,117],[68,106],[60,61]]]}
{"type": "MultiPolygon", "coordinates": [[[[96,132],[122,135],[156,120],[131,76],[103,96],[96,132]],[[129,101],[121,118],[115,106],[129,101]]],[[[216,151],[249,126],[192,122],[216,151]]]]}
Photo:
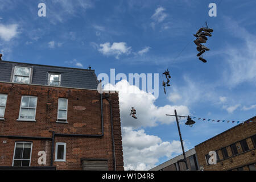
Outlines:
{"type": "Polygon", "coordinates": [[[10,41],[18,35],[18,24],[3,25],[0,24],[0,38],[5,41],[10,41]]]}

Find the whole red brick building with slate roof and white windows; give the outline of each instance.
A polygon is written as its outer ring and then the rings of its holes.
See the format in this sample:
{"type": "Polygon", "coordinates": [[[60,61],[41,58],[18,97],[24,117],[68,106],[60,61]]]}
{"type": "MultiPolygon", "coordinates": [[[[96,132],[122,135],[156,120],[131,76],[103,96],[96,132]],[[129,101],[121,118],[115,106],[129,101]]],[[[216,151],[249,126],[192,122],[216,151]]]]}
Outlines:
{"type": "Polygon", "coordinates": [[[0,61],[0,169],[123,170],[118,93],[97,85],[90,68],[0,61]]]}

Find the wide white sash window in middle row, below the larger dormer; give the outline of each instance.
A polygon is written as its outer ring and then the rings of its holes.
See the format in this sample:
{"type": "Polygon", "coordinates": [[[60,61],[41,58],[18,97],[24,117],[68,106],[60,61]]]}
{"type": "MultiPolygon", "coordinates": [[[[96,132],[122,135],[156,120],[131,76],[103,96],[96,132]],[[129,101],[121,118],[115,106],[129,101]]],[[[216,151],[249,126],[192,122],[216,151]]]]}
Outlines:
{"type": "Polygon", "coordinates": [[[22,96],[18,120],[35,121],[37,102],[38,97],[22,96]]]}

